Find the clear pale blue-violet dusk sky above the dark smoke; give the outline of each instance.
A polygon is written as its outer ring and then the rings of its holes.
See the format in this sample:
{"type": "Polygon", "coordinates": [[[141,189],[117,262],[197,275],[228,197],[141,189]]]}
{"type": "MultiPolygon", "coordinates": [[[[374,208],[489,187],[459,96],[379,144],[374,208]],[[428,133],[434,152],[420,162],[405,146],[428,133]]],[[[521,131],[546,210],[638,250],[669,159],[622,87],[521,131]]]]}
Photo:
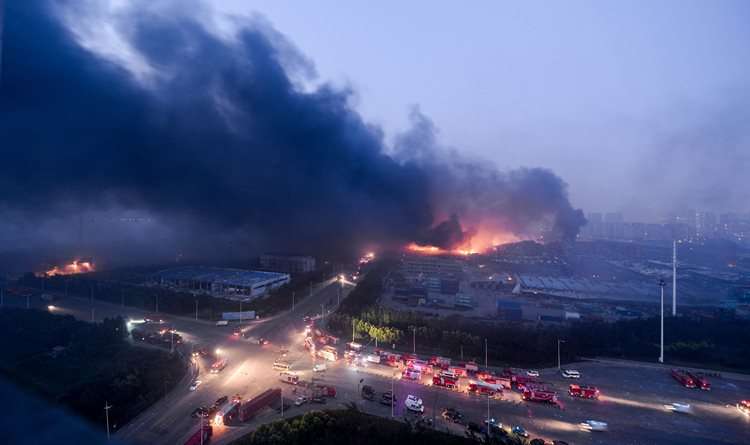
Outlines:
{"type": "Polygon", "coordinates": [[[416,104],[444,144],[551,168],[587,211],[750,210],[747,2],[215,3],[265,16],[388,135],[416,104]]]}

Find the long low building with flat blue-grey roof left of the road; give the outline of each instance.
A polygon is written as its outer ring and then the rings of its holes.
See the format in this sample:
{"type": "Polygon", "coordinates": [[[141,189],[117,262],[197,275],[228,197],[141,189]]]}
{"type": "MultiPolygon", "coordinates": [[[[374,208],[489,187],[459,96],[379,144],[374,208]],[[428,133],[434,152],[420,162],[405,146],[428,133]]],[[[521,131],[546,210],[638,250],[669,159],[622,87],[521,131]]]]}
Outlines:
{"type": "Polygon", "coordinates": [[[161,286],[233,300],[260,297],[290,280],[285,273],[201,266],[166,269],[156,276],[161,286]]]}

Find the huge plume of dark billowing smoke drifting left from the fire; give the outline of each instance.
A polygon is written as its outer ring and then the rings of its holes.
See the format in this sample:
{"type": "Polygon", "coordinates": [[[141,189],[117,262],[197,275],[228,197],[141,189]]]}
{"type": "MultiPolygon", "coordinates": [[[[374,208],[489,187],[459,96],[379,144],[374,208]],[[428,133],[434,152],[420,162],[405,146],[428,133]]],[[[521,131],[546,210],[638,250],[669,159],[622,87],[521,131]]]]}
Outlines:
{"type": "Polygon", "coordinates": [[[300,87],[314,69],[262,22],[227,38],[200,14],[127,14],[138,76],[79,44],[59,19],[69,2],[7,3],[0,212],[39,222],[137,209],[188,243],[315,253],[447,246],[466,235],[459,218],[518,234],[551,218],[567,238],[581,225],[546,170],[428,162],[419,128],[389,156],[350,91],[300,87]],[[409,139],[419,156],[405,156],[409,139]]]}

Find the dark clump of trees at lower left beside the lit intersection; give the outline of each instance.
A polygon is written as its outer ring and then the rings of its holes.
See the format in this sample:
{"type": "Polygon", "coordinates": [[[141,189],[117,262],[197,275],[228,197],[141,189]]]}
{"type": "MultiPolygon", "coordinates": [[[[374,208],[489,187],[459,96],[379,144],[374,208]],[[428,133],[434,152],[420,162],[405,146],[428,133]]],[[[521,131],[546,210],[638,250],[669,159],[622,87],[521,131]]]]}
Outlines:
{"type": "Polygon", "coordinates": [[[179,382],[186,363],[177,354],[125,341],[121,318],[85,323],[46,311],[0,310],[0,372],[47,400],[104,428],[124,425],[179,382]],[[22,339],[22,341],[19,341],[22,339]]]}

